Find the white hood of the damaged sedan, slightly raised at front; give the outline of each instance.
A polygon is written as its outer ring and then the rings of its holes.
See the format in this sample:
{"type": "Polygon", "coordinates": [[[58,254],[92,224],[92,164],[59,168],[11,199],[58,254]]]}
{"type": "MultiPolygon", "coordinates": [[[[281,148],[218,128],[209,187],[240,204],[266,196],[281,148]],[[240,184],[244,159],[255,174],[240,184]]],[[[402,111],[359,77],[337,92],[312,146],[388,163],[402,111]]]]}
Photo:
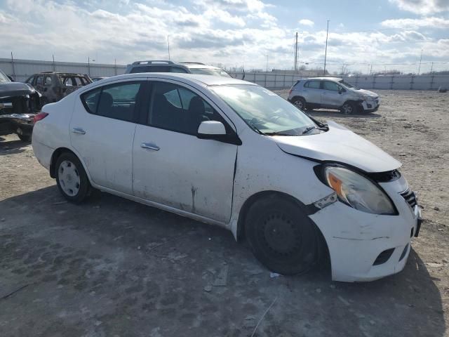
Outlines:
{"type": "Polygon", "coordinates": [[[344,126],[328,121],[329,131],[309,136],[274,136],[277,145],[288,154],[334,161],[355,166],[366,172],[385,172],[402,164],[365,138],[344,126]]]}

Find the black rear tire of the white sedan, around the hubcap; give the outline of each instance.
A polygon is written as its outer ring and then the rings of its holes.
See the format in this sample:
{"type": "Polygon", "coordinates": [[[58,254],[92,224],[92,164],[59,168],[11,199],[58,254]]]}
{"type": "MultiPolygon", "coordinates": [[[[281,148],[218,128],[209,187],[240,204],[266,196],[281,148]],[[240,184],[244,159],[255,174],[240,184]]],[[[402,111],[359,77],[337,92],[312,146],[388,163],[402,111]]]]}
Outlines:
{"type": "Polygon", "coordinates": [[[86,171],[84,171],[81,161],[79,161],[78,157],[72,152],[64,152],[58,157],[55,165],[55,176],[59,191],[68,201],[73,202],[74,204],[79,204],[91,194],[92,187],[91,183],[89,183],[86,171]],[[69,184],[65,183],[65,178],[62,178],[62,175],[64,174],[64,167],[62,164],[67,165],[68,163],[70,163],[69,167],[73,171],[73,174],[71,175],[72,178],[67,178],[67,180],[70,180],[69,182],[79,180],[79,184],[77,184],[79,186],[74,186],[73,193],[67,192],[67,190],[70,190],[67,188],[69,184]],[[74,167],[72,167],[72,165],[74,167]]]}

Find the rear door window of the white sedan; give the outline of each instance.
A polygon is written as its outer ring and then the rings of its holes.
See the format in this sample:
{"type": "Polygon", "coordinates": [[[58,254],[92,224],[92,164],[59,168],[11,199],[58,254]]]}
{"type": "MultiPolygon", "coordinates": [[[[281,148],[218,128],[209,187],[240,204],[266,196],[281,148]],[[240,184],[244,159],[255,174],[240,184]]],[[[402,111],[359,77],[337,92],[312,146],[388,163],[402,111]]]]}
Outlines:
{"type": "Polygon", "coordinates": [[[125,82],[95,88],[81,95],[87,112],[98,116],[120,119],[121,121],[135,120],[135,105],[142,82],[125,82]]]}

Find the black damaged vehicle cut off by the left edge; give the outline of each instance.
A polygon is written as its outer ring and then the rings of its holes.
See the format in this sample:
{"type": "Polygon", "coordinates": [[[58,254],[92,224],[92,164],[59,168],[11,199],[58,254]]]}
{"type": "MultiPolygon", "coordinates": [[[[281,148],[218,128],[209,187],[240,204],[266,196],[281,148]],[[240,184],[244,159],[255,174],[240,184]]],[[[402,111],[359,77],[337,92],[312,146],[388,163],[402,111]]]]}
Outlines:
{"type": "Polygon", "coordinates": [[[34,115],[41,109],[41,94],[32,86],[14,82],[0,70],[0,136],[16,133],[31,140],[34,115]]]}

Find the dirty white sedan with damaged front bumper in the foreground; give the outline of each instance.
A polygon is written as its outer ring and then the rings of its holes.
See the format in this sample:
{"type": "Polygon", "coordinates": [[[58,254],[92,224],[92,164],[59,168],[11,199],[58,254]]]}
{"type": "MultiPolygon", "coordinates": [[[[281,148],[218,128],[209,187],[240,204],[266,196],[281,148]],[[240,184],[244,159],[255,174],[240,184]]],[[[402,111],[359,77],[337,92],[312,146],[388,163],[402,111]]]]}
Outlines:
{"type": "Polygon", "coordinates": [[[110,77],[45,105],[32,146],[69,201],[95,188],[220,225],[284,275],[326,254],[337,281],[394,274],[420,228],[399,161],[246,81],[110,77]]]}

